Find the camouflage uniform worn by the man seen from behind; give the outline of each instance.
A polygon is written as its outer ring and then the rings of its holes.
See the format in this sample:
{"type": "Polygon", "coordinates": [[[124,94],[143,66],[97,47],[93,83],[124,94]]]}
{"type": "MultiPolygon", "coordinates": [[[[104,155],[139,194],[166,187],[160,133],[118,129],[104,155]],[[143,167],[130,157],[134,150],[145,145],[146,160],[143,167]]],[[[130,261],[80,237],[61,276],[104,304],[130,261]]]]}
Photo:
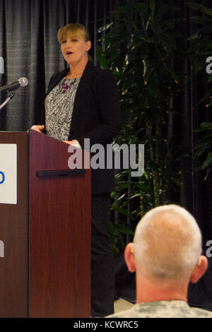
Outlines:
{"type": "Polygon", "coordinates": [[[134,304],[131,309],[117,312],[113,318],[212,318],[208,310],[189,307],[185,301],[158,301],[134,304]]]}

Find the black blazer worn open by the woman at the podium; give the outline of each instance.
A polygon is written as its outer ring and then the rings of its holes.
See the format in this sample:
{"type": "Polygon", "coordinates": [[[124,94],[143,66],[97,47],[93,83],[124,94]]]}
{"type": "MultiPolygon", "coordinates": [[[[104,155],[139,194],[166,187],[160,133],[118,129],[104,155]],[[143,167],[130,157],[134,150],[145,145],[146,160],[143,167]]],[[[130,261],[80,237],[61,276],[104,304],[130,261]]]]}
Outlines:
{"type": "MultiPolygon", "coordinates": [[[[54,74],[49,81],[48,93],[69,69],[54,74]]],[[[69,141],[76,139],[84,148],[84,138],[90,146],[112,143],[121,129],[121,111],[117,84],[110,71],[94,66],[90,61],[81,77],[73,105],[69,141]]],[[[45,124],[45,110],[41,124],[45,124]]],[[[103,194],[114,189],[114,170],[92,170],[92,194],[103,194]]]]}

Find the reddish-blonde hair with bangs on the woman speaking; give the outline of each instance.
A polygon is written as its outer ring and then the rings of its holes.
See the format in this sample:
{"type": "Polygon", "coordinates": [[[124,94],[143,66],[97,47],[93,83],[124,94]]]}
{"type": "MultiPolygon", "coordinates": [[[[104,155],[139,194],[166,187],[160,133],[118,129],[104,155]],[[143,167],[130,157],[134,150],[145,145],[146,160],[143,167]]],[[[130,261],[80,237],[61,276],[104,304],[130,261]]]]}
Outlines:
{"type": "Polygon", "coordinates": [[[70,35],[70,32],[72,32],[72,33],[80,32],[81,35],[83,36],[85,42],[88,42],[88,40],[90,40],[90,32],[84,25],[82,25],[80,23],[69,23],[69,24],[65,25],[64,27],[59,28],[59,30],[57,32],[57,40],[58,40],[59,44],[61,44],[61,42],[64,39],[66,39],[66,37],[68,35],[70,35]]]}

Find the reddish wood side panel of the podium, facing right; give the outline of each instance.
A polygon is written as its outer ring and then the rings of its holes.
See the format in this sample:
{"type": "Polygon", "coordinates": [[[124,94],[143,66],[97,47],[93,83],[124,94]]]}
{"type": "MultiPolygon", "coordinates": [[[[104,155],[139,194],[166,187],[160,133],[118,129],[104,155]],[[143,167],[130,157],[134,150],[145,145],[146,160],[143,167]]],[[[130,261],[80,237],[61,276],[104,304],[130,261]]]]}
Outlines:
{"type": "Polygon", "coordinates": [[[30,132],[30,317],[90,317],[90,170],[30,132]]]}

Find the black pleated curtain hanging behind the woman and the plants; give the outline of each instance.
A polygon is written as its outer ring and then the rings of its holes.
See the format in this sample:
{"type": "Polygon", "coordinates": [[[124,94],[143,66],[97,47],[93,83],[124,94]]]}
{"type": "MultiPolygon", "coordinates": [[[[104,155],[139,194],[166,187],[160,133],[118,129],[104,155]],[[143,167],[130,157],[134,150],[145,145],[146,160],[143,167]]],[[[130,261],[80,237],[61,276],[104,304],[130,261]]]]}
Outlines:
{"type": "MultiPolygon", "coordinates": [[[[148,0],[140,2],[148,3],[148,0]]],[[[158,0],[157,6],[165,0],[158,0]]],[[[211,0],[194,0],[199,4],[211,6],[211,0]]],[[[29,84],[20,88],[9,104],[0,111],[0,130],[25,131],[32,124],[39,122],[42,103],[45,98],[47,84],[53,73],[64,69],[57,42],[57,30],[67,24],[79,22],[90,30],[93,61],[98,64],[95,46],[98,41],[98,28],[110,22],[107,15],[115,6],[124,5],[127,0],[0,0],[0,57],[4,58],[4,73],[0,74],[0,83],[5,85],[25,76],[29,84]],[[100,20],[102,19],[102,20],[100,20]]],[[[187,8],[186,1],[176,0],[180,6],[180,16],[183,18],[179,30],[184,33],[184,43],[191,34],[194,25],[191,17],[194,14],[187,8]]],[[[204,36],[203,36],[204,37],[204,36]]],[[[212,55],[212,51],[211,51],[212,55]]],[[[180,64],[184,73],[189,75],[190,66],[185,62],[180,64]]],[[[201,121],[212,121],[209,107],[200,105],[194,110],[194,105],[207,92],[206,86],[189,81],[187,89],[178,100],[173,100],[173,108],[179,114],[170,117],[167,130],[175,134],[177,143],[182,146],[181,189],[175,194],[175,201],[187,208],[198,221],[203,233],[203,252],[206,252],[206,242],[212,239],[211,218],[211,174],[204,181],[204,172],[197,173],[194,162],[194,146],[198,134],[194,132],[201,121]]],[[[6,95],[0,95],[0,102],[6,95]]],[[[117,284],[119,279],[124,285],[123,275],[127,275],[127,283],[133,285],[130,299],[134,298],[134,277],[129,281],[124,263],[117,269],[117,284]]],[[[209,269],[204,278],[195,286],[189,287],[189,302],[199,307],[212,310],[212,271],[209,259],[209,269]]],[[[126,289],[126,285],[124,285],[126,289]]],[[[119,295],[122,295],[119,287],[119,295]]],[[[126,296],[127,298],[127,296],[126,296]]]]}

